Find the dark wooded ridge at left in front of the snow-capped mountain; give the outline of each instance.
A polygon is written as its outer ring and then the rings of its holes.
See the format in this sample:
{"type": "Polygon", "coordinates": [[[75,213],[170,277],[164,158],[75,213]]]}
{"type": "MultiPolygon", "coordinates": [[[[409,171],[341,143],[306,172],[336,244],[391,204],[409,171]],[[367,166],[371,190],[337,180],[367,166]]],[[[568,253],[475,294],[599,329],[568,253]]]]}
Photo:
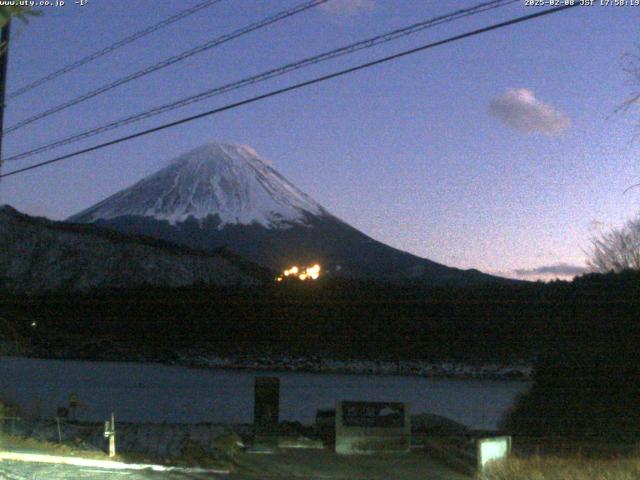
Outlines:
{"type": "Polygon", "coordinates": [[[234,255],[69,225],[0,207],[0,286],[14,293],[141,285],[256,285],[266,271],[234,255]]]}

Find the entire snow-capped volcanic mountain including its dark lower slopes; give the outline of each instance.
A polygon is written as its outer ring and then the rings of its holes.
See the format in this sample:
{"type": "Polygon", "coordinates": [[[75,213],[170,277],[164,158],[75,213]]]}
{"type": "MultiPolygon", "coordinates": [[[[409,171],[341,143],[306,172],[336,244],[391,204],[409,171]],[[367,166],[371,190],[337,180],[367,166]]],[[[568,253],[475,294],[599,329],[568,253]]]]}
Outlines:
{"type": "Polygon", "coordinates": [[[329,275],[432,284],[500,281],[373,240],[333,216],[252,148],[207,144],[68,219],[197,249],[227,249],[281,271],[319,263],[329,275]]]}

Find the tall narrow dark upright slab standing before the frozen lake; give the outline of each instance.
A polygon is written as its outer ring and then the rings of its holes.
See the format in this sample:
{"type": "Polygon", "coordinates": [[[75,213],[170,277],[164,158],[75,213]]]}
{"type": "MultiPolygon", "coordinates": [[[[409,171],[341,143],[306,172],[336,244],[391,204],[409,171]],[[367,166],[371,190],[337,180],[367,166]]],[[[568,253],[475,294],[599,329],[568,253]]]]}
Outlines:
{"type": "Polygon", "coordinates": [[[280,413],[280,379],[256,377],[254,389],[254,450],[276,449],[280,413]]]}

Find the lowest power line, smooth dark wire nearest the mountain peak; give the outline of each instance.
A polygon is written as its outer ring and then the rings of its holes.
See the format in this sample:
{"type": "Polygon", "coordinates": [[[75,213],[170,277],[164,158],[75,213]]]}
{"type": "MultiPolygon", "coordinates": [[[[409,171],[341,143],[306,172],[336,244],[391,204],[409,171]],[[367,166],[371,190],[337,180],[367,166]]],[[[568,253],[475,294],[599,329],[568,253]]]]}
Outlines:
{"type": "Polygon", "coordinates": [[[101,143],[101,144],[98,144],[98,145],[94,145],[93,147],[88,147],[88,148],[84,148],[82,150],[77,150],[75,152],[68,153],[66,155],[62,155],[62,156],[59,156],[59,157],[56,157],[56,158],[52,158],[51,160],[47,160],[47,161],[44,161],[44,162],[36,163],[36,164],[30,165],[28,167],[20,168],[18,170],[14,170],[12,172],[0,175],[0,178],[9,177],[9,176],[12,176],[12,175],[17,175],[19,173],[23,173],[23,172],[26,172],[26,171],[29,171],[29,170],[34,170],[36,168],[44,167],[45,165],[50,165],[52,163],[60,162],[62,160],[66,160],[66,159],[69,159],[69,158],[72,158],[72,157],[77,157],[78,155],[82,155],[84,153],[89,153],[89,152],[94,152],[96,150],[101,150],[103,148],[110,147],[112,145],[116,145],[116,144],[123,143],[123,142],[129,141],[129,140],[133,140],[135,138],[139,138],[139,137],[143,137],[143,136],[146,136],[146,135],[150,135],[152,133],[159,132],[161,130],[166,130],[168,128],[176,127],[176,126],[182,125],[184,123],[188,123],[188,122],[192,122],[194,120],[198,120],[200,118],[208,117],[208,116],[215,115],[215,114],[221,113],[221,112],[226,112],[227,110],[232,110],[234,108],[238,108],[238,107],[241,107],[241,106],[244,106],[244,105],[248,105],[250,103],[258,102],[260,100],[264,100],[264,99],[267,99],[267,98],[275,97],[275,96],[281,95],[283,93],[287,93],[287,92],[291,92],[291,91],[294,91],[294,90],[298,90],[300,88],[307,87],[309,85],[314,85],[316,83],[324,82],[326,80],[331,80],[333,78],[341,77],[341,76],[344,76],[344,75],[347,75],[347,74],[350,74],[350,73],[354,73],[354,72],[357,72],[357,71],[360,71],[360,70],[364,70],[366,68],[370,68],[370,67],[373,67],[373,66],[376,66],[376,65],[380,65],[380,64],[383,64],[383,63],[386,63],[386,62],[394,61],[394,60],[397,60],[399,58],[403,58],[403,57],[406,57],[408,55],[412,55],[414,53],[418,53],[418,52],[422,52],[424,50],[428,50],[428,49],[431,49],[431,48],[434,48],[434,47],[438,47],[440,45],[445,45],[447,43],[456,42],[458,40],[462,40],[462,39],[465,39],[465,38],[469,38],[469,37],[473,37],[473,36],[476,36],[476,35],[480,35],[482,33],[486,33],[486,32],[490,32],[490,31],[493,31],[493,30],[500,29],[500,28],[508,27],[510,25],[515,25],[515,24],[518,24],[518,23],[526,22],[526,21],[529,21],[529,20],[533,20],[535,18],[539,18],[539,17],[545,16],[545,15],[551,15],[551,14],[554,14],[554,13],[558,13],[558,12],[561,12],[563,10],[567,10],[569,8],[577,7],[579,5],[580,5],[579,3],[574,3],[574,4],[564,5],[564,6],[561,6],[561,7],[555,7],[555,8],[546,9],[546,10],[543,10],[543,11],[540,11],[540,12],[537,12],[537,13],[532,13],[532,14],[529,14],[529,15],[524,15],[524,16],[521,16],[521,17],[512,18],[511,20],[507,20],[506,22],[495,23],[495,24],[490,25],[488,27],[479,28],[477,30],[472,30],[470,32],[462,33],[460,35],[455,35],[453,37],[449,37],[449,38],[446,38],[444,40],[439,40],[437,42],[428,43],[426,45],[422,45],[420,47],[412,48],[410,50],[404,50],[404,51],[402,51],[400,53],[396,53],[396,54],[393,54],[393,55],[389,55],[387,57],[379,58],[378,60],[373,60],[373,61],[367,62],[367,63],[361,63],[360,65],[356,65],[355,67],[350,67],[350,68],[347,68],[347,69],[344,69],[344,70],[339,70],[337,72],[330,73],[330,74],[327,74],[327,75],[323,75],[323,76],[320,76],[320,77],[316,77],[314,79],[307,80],[307,81],[304,81],[304,82],[296,83],[296,84],[290,85],[288,87],[280,88],[280,89],[277,89],[277,90],[272,90],[272,91],[264,93],[262,95],[257,95],[255,97],[251,97],[251,98],[248,98],[248,99],[245,99],[245,100],[241,100],[239,102],[235,102],[235,103],[231,103],[231,104],[225,105],[224,107],[215,108],[213,110],[202,112],[202,113],[199,113],[197,115],[192,115],[190,117],[182,118],[182,119],[176,120],[174,122],[165,123],[163,125],[160,125],[160,126],[157,126],[157,127],[154,127],[154,128],[150,128],[148,130],[143,130],[141,132],[137,132],[137,133],[134,133],[134,134],[131,134],[131,135],[127,135],[125,137],[120,137],[120,138],[117,138],[115,140],[110,140],[108,142],[104,142],[104,143],[101,143]]]}

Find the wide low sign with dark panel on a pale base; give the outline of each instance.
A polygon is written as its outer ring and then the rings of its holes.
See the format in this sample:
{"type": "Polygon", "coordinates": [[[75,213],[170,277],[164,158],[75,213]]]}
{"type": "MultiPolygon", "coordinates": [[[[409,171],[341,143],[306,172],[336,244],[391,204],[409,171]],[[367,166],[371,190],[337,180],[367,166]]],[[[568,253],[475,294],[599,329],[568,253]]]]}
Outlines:
{"type": "Polygon", "coordinates": [[[400,402],[342,401],[336,406],[336,453],[408,452],[409,405],[400,402]]]}

